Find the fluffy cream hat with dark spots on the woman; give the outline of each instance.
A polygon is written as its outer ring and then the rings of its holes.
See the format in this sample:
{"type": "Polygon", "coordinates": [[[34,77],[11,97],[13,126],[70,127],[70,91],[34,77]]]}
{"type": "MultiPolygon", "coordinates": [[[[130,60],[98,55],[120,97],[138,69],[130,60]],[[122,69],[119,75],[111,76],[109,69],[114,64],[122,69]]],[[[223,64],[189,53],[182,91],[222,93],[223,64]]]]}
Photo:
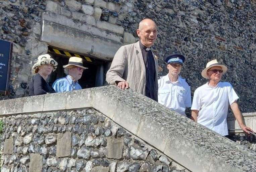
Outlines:
{"type": "Polygon", "coordinates": [[[39,55],[37,58],[37,62],[32,67],[33,73],[37,73],[38,67],[44,64],[52,64],[53,65],[52,71],[55,71],[58,65],[57,61],[55,61],[49,54],[39,55]]]}

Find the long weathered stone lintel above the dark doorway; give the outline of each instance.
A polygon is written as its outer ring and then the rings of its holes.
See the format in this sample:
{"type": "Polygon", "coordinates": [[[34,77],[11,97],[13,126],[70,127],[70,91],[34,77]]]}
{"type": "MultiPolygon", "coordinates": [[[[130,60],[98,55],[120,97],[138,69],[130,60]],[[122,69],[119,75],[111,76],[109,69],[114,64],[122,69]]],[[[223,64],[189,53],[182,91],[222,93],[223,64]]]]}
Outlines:
{"type": "Polygon", "coordinates": [[[122,45],[48,21],[43,21],[41,40],[55,47],[90,54],[104,60],[112,60],[122,45]]]}

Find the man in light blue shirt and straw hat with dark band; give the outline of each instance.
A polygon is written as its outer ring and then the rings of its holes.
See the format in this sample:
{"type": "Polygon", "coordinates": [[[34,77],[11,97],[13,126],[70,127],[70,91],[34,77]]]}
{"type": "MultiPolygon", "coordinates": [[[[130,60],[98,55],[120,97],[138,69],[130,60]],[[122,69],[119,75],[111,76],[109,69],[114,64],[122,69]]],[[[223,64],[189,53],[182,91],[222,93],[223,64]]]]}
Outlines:
{"type": "Polygon", "coordinates": [[[63,66],[67,76],[57,79],[53,83],[53,89],[59,92],[67,92],[73,90],[81,90],[82,87],[78,83],[78,79],[82,77],[84,69],[83,59],[79,57],[70,57],[68,64],[63,66]]]}

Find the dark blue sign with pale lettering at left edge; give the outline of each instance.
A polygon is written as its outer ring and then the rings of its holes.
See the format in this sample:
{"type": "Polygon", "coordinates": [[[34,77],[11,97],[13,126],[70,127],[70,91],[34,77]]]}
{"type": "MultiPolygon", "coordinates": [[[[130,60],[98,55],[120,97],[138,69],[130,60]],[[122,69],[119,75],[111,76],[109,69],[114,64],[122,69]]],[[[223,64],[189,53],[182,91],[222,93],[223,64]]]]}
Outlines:
{"type": "Polygon", "coordinates": [[[7,94],[12,55],[12,43],[0,39],[0,93],[7,94]]]}

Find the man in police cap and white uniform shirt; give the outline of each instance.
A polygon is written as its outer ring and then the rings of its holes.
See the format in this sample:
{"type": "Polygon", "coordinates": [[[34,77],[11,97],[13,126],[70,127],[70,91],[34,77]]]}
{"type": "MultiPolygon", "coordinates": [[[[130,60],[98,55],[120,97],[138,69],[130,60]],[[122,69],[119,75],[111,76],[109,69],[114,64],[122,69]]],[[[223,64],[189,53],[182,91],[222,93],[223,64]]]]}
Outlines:
{"type": "Polygon", "coordinates": [[[190,86],[178,74],[181,72],[185,57],[171,54],[165,58],[168,74],[158,79],[158,103],[186,116],[186,107],[191,107],[190,86]]]}

